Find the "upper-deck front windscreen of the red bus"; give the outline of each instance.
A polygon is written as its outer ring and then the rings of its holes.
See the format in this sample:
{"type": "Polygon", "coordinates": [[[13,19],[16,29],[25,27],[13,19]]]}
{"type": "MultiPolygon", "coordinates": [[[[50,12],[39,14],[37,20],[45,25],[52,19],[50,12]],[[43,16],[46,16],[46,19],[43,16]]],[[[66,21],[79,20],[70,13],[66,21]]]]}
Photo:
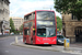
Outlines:
{"type": "Polygon", "coordinates": [[[55,20],[55,12],[51,11],[37,11],[37,20],[55,20]]]}

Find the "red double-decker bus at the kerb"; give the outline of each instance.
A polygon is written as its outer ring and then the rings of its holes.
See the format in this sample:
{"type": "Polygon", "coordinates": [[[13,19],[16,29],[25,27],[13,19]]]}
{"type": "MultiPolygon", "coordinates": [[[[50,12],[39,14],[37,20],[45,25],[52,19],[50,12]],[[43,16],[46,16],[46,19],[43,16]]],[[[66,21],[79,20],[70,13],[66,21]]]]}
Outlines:
{"type": "Polygon", "coordinates": [[[24,15],[23,42],[57,44],[57,21],[54,11],[35,10],[24,15]]]}

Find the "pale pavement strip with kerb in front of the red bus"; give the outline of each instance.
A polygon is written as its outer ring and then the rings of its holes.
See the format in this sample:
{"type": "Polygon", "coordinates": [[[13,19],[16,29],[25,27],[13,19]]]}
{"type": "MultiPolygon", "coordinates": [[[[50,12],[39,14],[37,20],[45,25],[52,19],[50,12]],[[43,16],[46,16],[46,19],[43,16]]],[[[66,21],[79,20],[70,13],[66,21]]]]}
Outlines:
{"type": "Polygon", "coordinates": [[[63,45],[40,46],[40,45],[24,44],[23,38],[19,40],[17,43],[12,42],[10,45],[82,55],[82,44],[80,44],[80,43],[70,44],[69,50],[65,50],[63,45]]]}

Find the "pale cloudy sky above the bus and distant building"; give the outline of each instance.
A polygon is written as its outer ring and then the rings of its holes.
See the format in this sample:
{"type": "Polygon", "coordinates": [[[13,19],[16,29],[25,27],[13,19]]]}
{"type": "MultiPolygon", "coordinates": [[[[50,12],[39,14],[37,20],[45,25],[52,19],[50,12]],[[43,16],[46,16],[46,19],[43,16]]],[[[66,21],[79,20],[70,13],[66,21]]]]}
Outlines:
{"type": "Polygon", "coordinates": [[[54,0],[10,0],[10,16],[24,18],[32,11],[50,9],[61,18],[61,14],[54,9],[54,0]]]}

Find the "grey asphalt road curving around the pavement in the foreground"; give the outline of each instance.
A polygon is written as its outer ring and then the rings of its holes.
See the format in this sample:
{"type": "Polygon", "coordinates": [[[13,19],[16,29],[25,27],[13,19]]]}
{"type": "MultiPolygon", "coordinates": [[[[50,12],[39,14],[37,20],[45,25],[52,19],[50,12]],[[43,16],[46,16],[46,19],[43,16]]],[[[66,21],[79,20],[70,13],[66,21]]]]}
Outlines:
{"type": "MultiPolygon", "coordinates": [[[[74,55],[70,53],[52,52],[52,51],[43,51],[35,48],[26,48],[11,45],[14,42],[15,36],[1,37],[0,38],[0,55],[74,55]]],[[[19,40],[22,36],[19,36],[19,40]]]]}

